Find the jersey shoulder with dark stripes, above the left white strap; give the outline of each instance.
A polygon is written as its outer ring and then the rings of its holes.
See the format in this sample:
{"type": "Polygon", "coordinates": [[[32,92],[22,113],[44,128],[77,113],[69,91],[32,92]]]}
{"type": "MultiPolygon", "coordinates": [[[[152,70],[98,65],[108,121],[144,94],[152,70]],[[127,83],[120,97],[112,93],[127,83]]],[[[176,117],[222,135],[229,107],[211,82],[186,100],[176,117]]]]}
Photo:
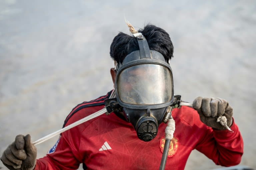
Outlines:
{"type": "Polygon", "coordinates": [[[101,110],[104,107],[104,100],[109,98],[111,92],[112,91],[108,92],[106,95],[98,97],[97,99],[78,104],[66,117],[63,128],[101,110]]]}

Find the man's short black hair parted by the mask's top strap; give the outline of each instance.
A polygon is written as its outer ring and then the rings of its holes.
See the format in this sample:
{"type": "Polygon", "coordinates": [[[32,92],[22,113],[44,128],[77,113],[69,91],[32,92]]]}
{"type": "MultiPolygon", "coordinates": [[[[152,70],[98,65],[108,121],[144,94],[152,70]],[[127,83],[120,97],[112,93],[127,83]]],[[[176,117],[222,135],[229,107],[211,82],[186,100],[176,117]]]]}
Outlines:
{"type": "MultiPolygon", "coordinates": [[[[160,52],[167,62],[173,57],[172,41],[166,31],[154,25],[146,25],[138,32],[147,39],[150,50],[160,52]]],[[[120,32],[110,45],[110,56],[117,63],[122,63],[128,54],[136,50],[139,50],[136,38],[120,32]]]]}

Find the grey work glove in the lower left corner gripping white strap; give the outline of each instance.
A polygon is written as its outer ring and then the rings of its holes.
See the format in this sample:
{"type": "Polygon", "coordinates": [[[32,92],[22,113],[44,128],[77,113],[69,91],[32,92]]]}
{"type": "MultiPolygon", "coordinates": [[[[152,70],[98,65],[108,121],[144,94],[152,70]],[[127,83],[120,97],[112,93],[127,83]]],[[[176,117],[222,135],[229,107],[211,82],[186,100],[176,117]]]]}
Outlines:
{"type": "Polygon", "coordinates": [[[10,170],[33,170],[36,165],[36,147],[30,141],[30,135],[17,135],[1,157],[3,164],[10,170]]]}

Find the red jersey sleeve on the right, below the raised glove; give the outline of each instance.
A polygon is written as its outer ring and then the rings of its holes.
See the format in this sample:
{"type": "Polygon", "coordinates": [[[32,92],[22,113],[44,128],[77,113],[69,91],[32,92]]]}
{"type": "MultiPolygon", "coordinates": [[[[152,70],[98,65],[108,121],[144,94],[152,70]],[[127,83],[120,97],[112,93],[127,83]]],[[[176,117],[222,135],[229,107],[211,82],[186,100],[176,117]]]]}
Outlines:
{"type": "Polygon", "coordinates": [[[230,128],[234,132],[208,128],[196,149],[212,159],[216,165],[239,164],[243,155],[243,139],[234,120],[230,128]]]}

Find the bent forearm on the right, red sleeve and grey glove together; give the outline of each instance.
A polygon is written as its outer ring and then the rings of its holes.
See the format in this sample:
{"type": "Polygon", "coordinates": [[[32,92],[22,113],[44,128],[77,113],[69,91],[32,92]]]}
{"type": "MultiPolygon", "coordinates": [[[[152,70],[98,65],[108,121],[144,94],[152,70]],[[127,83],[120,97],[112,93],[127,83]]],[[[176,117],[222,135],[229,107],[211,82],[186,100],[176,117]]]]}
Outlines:
{"type": "Polygon", "coordinates": [[[228,102],[219,98],[198,97],[194,100],[193,107],[197,110],[201,122],[208,126],[196,149],[217,165],[239,164],[243,154],[243,139],[234,123],[233,109],[228,102]],[[222,116],[227,118],[227,126],[233,132],[217,122],[217,118],[222,116]]]}

